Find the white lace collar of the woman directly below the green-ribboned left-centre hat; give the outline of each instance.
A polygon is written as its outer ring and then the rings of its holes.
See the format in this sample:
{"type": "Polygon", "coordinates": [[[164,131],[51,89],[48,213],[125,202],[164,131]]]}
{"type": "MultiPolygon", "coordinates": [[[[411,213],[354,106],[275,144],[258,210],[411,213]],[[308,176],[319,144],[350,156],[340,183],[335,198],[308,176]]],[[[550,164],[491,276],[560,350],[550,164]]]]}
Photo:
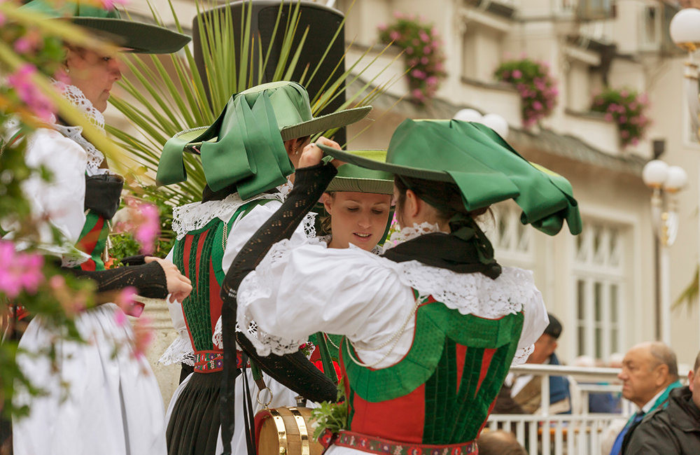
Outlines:
{"type": "MultiPolygon", "coordinates": [[[[233,193],[221,201],[193,202],[193,204],[175,207],[173,209],[172,230],[178,240],[182,239],[188,232],[204,228],[214,218],[228,223],[233,214],[246,202],[260,199],[274,199],[284,202],[291,189],[292,183],[287,180],[286,183],[276,188],[276,193],[262,193],[248,200],[241,200],[238,193],[233,193]]],[[[307,230],[305,224],[304,230],[307,230]]]]}

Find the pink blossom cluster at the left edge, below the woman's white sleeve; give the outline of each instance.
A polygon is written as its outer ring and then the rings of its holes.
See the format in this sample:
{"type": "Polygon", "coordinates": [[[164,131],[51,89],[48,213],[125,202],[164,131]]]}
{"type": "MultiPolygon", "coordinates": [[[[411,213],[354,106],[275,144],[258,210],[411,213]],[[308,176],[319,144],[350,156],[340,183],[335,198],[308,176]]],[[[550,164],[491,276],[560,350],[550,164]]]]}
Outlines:
{"type": "Polygon", "coordinates": [[[20,253],[10,241],[0,240],[0,292],[10,298],[22,290],[36,293],[44,280],[43,256],[36,253],[20,253]]]}

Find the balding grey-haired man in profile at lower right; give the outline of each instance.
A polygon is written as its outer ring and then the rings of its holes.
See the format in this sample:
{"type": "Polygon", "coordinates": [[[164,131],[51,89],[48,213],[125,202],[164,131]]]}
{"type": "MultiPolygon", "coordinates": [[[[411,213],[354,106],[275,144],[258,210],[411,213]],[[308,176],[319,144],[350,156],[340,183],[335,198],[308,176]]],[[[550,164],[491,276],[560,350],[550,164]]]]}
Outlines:
{"type": "MultiPolygon", "coordinates": [[[[617,377],[622,381],[622,396],[639,407],[639,412],[629,418],[612,444],[610,455],[622,454],[622,442],[629,429],[641,421],[668,398],[673,388],[680,387],[678,363],[675,354],[661,342],[636,344],[624,356],[622,371],[617,377]]],[[[631,452],[630,452],[631,453],[631,452]]]]}

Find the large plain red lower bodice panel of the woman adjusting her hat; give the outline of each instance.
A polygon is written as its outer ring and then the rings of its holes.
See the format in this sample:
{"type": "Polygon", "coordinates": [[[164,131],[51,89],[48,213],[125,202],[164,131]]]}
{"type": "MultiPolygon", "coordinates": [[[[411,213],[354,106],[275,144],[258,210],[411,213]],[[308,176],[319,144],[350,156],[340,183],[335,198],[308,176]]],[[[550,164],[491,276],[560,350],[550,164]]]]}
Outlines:
{"type": "Polygon", "coordinates": [[[372,403],[354,395],[351,431],[421,444],[426,418],[426,386],[395,400],[372,403]]]}

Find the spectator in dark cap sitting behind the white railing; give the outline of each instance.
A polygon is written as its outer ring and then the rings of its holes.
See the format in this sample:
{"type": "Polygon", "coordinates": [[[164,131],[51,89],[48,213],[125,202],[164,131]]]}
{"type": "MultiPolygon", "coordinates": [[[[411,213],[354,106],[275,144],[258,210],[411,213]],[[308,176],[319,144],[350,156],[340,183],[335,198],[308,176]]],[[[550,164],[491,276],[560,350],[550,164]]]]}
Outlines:
{"type": "MultiPolygon", "coordinates": [[[[549,314],[549,325],[542,333],[542,336],[535,342],[535,350],[531,353],[527,363],[540,365],[559,365],[559,359],[556,358],[554,349],[556,349],[556,340],[561,335],[561,323],[552,315],[549,314]]],[[[506,382],[509,382],[507,378],[506,382]]],[[[538,414],[542,401],[541,387],[542,377],[533,376],[532,374],[523,374],[519,377],[512,378],[510,384],[510,397],[525,414],[538,414]]],[[[502,398],[503,394],[499,395],[502,398]]],[[[505,407],[505,403],[501,402],[505,407]]],[[[498,400],[496,407],[499,407],[498,400]]],[[[512,406],[514,407],[514,406],[512,406]]],[[[517,409],[517,407],[514,407],[517,409]]],[[[549,377],[549,413],[563,414],[570,412],[571,400],[569,393],[569,383],[565,377],[550,376],[549,377]]],[[[494,409],[494,413],[496,410],[494,409]]]]}

